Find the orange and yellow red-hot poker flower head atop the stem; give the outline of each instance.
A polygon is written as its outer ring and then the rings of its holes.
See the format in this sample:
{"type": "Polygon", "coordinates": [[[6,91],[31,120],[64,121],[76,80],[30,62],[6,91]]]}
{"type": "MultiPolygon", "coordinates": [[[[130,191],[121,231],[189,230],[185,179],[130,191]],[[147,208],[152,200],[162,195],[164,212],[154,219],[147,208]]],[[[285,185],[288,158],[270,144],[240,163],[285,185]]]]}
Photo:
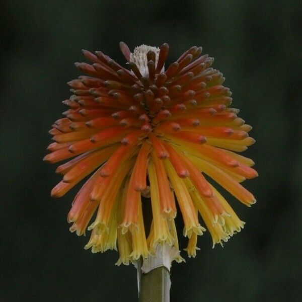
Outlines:
{"type": "MultiPolygon", "coordinates": [[[[133,53],[123,42],[120,48],[129,69],[101,51],[83,50],[91,63],[75,63],[85,75],[68,83],[72,96],[63,103],[69,109],[50,130],[55,142],[45,160],[68,160],[56,170],[63,180],[51,195],[61,197],[88,177],[68,213],[70,231],[92,230],[86,248],[118,248],[117,263],[128,264],[158,244],[179,250],[178,203],[189,256],[196,255],[197,236],[205,231],[198,213],[213,245],[228,241],[244,222],[205,175],[243,204],[255,202],[240,184],[257,176],[254,163],[237,154],[254,143],[252,127],[229,107],[231,92],[201,47],[168,67],[166,43],[141,45],[133,53]],[[142,196],[152,204],[149,232],[142,196]]],[[[182,260],[179,252],[175,260],[182,260]]]]}

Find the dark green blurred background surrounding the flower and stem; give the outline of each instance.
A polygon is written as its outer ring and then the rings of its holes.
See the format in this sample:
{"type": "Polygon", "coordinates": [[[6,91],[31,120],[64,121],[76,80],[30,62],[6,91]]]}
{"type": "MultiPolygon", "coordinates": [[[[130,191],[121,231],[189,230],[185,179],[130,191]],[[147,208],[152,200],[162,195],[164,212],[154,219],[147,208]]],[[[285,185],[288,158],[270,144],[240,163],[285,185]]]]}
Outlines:
{"type": "MultiPolygon", "coordinates": [[[[215,58],[256,144],[244,155],[259,178],[245,182],[252,208],[227,195],[245,229],[172,267],[171,301],[298,301],[301,297],[301,2],[4,1],[1,34],[1,301],[135,301],[136,271],[115,251],[92,254],[68,231],[76,189],[42,162],[66,82],[80,73],[81,49],[124,64],[119,41],[170,45],[173,62],[193,45],[215,58]],[[300,109],[298,109],[300,108],[300,109]]],[[[179,225],[181,227],[181,225],[179,225]]],[[[181,234],[181,231],[179,231],[181,234]]],[[[186,246],[186,241],[181,241],[186,246]]]]}

